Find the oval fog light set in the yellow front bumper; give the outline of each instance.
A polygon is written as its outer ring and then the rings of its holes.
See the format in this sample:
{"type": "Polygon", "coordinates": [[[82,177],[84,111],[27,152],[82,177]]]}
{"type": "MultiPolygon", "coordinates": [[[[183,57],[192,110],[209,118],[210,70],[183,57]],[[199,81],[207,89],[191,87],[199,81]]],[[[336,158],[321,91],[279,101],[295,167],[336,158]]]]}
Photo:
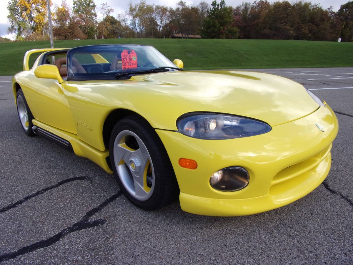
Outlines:
{"type": "Polygon", "coordinates": [[[223,192],[235,192],[249,184],[249,172],[240,166],[231,166],[216,171],[210,178],[211,187],[223,192]]]}

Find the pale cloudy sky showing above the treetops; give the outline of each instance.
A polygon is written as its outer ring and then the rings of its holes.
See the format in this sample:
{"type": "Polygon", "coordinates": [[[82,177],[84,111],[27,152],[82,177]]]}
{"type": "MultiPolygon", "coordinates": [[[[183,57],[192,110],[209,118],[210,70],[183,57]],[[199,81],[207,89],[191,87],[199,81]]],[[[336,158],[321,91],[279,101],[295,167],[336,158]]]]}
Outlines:
{"type": "MultiPolygon", "coordinates": [[[[72,1],[73,0],[68,0],[67,2],[72,6],[72,1]]],[[[184,0],[185,1],[185,0],[184,0]]],[[[201,1],[201,0],[200,0],[201,1]]],[[[192,4],[195,2],[196,4],[199,3],[200,1],[190,1],[186,0],[188,4],[192,4]]],[[[211,3],[212,0],[206,0],[207,2],[211,3]]],[[[252,2],[253,0],[247,0],[249,2],[252,2]]],[[[309,0],[310,1],[310,0],[309,0]]],[[[337,11],[339,10],[340,6],[348,2],[349,0],[313,0],[312,2],[319,2],[323,8],[328,8],[330,6],[333,6],[334,10],[337,11]]],[[[61,4],[61,0],[52,0],[53,4],[61,4]]],[[[129,0],[95,0],[96,5],[100,6],[102,2],[107,2],[108,5],[110,5],[112,8],[114,8],[114,14],[122,13],[127,9],[127,5],[129,0]]],[[[139,2],[139,0],[133,0],[132,2],[136,3],[139,2]]],[[[146,0],[148,4],[155,4],[155,5],[167,5],[171,7],[175,7],[175,4],[179,2],[179,0],[146,0]]],[[[219,1],[217,1],[219,2],[219,1]]],[[[232,5],[232,6],[237,6],[241,4],[241,2],[244,2],[244,0],[226,0],[226,5],[232,5]]],[[[272,1],[271,1],[272,2],[272,1]]],[[[295,2],[295,1],[292,1],[295,2]]],[[[0,36],[2,37],[8,37],[12,39],[13,36],[7,34],[7,27],[8,27],[8,22],[7,22],[7,3],[8,0],[0,0],[0,36]]],[[[98,14],[99,16],[99,14],[98,14]]]]}

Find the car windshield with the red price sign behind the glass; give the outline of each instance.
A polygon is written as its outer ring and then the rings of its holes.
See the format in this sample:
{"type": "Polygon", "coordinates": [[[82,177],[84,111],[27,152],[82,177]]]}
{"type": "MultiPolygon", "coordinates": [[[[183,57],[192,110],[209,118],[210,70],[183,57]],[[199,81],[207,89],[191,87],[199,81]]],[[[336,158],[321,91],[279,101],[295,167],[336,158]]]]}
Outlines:
{"type": "Polygon", "coordinates": [[[77,47],[68,51],[67,62],[68,80],[111,79],[158,67],[177,68],[157,49],[144,45],[77,47]]]}

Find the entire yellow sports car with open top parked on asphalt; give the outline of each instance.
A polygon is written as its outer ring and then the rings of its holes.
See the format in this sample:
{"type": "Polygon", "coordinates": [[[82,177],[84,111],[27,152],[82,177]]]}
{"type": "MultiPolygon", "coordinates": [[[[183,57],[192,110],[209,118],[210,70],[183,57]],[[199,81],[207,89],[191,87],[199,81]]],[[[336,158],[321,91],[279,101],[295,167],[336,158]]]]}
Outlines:
{"type": "Polygon", "coordinates": [[[12,84],[27,135],[114,173],[145,210],[179,196],[195,214],[264,212],[310,193],[330,170],[334,112],[283,77],[184,71],[151,46],[94,45],[28,51],[12,84]]]}

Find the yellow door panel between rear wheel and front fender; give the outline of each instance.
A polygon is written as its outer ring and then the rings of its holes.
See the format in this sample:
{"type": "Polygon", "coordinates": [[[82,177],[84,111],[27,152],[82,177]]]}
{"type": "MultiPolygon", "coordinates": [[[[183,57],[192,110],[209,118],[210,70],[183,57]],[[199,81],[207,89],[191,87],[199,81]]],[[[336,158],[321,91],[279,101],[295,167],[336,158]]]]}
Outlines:
{"type": "Polygon", "coordinates": [[[34,73],[26,76],[23,93],[35,119],[55,128],[77,134],[70,106],[62,85],[54,79],[37,78],[34,73]]]}

